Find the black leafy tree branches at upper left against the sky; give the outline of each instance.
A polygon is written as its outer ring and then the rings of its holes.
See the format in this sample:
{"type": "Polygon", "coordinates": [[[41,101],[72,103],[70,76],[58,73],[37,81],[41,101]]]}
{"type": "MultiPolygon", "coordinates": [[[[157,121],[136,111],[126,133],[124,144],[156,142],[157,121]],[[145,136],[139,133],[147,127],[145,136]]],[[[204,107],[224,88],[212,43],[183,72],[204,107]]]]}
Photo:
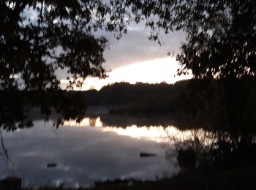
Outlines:
{"type": "MultiPolygon", "coordinates": [[[[1,1],[0,89],[58,88],[56,70],[67,69],[71,86],[91,75],[106,77],[102,63],[108,40],[94,31],[124,31],[106,19],[102,1],[1,1]]],[[[117,19],[118,20],[118,19],[117,19]]]]}

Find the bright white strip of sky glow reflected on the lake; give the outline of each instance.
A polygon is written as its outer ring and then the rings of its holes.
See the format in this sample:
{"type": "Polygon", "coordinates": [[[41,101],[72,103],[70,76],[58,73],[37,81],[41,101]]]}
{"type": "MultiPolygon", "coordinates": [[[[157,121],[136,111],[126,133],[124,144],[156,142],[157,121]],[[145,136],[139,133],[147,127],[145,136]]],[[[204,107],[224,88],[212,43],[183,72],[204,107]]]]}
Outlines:
{"type": "MultiPolygon", "coordinates": [[[[126,121],[124,121],[124,124],[126,121]]],[[[203,129],[190,129],[179,130],[172,125],[148,125],[140,126],[137,124],[127,126],[108,126],[108,123],[102,121],[100,117],[97,118],[83,118],[82,121],[77,122],[75,120],[64,121],[64,126],[79,126],[79,127],[101,127],[102,132],[115,132],[118,135],[124,135],[136,139],[152,140],[155,142],[171,142],[176,141],[194,141],[195,138],[204,140],[205,145],[214,142],[214,138],[211,136],[212,132],[206,132],[203,129]],[[195,137],[195,135],[197,137],[195,137]]]]}

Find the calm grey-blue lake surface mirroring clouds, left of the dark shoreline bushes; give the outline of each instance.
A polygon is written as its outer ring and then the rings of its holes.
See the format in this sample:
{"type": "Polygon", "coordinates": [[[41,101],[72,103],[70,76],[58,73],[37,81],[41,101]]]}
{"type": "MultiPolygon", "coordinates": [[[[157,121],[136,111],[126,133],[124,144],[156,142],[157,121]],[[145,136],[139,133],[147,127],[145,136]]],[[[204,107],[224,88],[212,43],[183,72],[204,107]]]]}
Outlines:
{"type": "Polygon", "coordinates": [[[3,132],[9,159],[0,159],[1,177],[21,176],[24,185],[86,186],[95,180],[171,176],[179,168],[175,157],[165,158],[164,147],[173,132],[173,126],[106,126],[100,118],[66,121],[59,129],[52,121],[34,121],[31,129],[3,132]],[[140,158],[140,152],[157,156],[140,158]],[[49,168],[50,163],[57,165],[49,168]]]}

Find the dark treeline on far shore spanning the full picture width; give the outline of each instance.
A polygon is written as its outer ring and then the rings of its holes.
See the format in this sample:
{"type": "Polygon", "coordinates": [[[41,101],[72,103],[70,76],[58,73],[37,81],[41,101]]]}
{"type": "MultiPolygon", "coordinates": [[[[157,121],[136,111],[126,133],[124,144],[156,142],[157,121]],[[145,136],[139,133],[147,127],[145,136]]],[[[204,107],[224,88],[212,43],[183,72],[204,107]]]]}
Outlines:
{"type": "Polygon", "coordinates": [[[154,118],[158,115],[159,121],[165,115],[178,121],[179,128],[243,126],[252,129],[256,126],[256,79],[252,77],[192,79],[175,84],[113,83],[100,91],[0,91],[0,98],[0,124],[7,123],[8,129],[23,121],[31,107],[39,107],[45,115],[56,110],[61,123],[70,118],[80,121],[88,114],[86,108],[95,106],[110,107],[110,115],[116,116],[134,114],[154,118]]]}

